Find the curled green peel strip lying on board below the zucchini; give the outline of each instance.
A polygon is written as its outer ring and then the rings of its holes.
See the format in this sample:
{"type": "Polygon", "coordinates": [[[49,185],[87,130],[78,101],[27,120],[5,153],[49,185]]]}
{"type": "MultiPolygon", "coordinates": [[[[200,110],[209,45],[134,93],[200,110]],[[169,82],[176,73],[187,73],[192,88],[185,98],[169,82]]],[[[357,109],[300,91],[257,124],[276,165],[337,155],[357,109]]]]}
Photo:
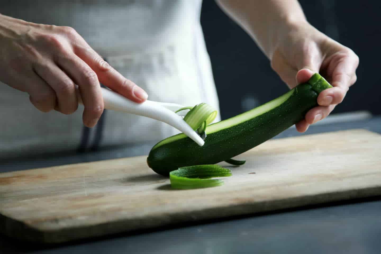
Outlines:
{"type": "Polygon", "coordinates": [[[222,179],[212,177],[231,176],[231,170],[218,165],[182,167],[169,173],[172,189],[199,189],[224,185],[222,179]]]}

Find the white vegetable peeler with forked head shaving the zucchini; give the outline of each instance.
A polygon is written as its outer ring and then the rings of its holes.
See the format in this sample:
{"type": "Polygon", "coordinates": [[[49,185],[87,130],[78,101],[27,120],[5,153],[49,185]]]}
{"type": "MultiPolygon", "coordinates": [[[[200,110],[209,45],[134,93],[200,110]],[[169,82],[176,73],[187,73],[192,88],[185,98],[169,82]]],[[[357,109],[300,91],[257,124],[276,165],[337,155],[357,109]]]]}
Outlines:
{"type": "MultiPolygon", "coordinates": [[[[158,121],[167,123],[178,129],[186,136],[190,137],[198,145],[203,146],[204,140],[200,137],[191,126],[189,126],[181,116],[184,116],[186,112],[180,111],[174,113],[176,110],[182,108],[182,105],[166,102],[145,101],[142,103],[136,103],[123,97],[122,95],[115,93],[114,91],[101,88],[104,108],[109,110],[115,110],[120,112],[131,113],[134,115],[141,115],[149,117],[158,121]]],[[[79,91],[77,89],[78,102],[82,104],[79,91]]]]}

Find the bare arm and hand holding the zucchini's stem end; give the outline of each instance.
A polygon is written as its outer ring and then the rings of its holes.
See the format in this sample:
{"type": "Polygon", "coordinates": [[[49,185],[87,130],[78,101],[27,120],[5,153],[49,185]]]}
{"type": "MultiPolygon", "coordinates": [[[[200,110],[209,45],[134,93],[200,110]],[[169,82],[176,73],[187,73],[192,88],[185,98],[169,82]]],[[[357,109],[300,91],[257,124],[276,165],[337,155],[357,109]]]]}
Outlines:
{"type": "Polygon", "coordinates": [[[216,1],[251,35],[288,87],[307,81],[314,72],[334,86],[319,94],[319,106],[296,124],[298,131],[327,117],[356,82],[359,57],[309,24],[297,0],[216,1]]]}

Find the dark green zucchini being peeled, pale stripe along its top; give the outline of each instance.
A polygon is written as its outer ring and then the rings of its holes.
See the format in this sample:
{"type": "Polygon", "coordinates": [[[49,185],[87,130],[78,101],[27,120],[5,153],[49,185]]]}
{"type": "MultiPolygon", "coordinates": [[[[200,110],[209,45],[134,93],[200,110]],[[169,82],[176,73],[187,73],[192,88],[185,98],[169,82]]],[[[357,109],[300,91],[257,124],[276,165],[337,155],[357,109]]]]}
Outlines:
{"type": "Polygon", "coordinates": [[[185,134],[158,142],[149,152],[148,166],[168,176],[184,166],[215,164],[271,139],[304,119],[317,105],[317,96],[332,86],[318,73],[282,96],[227,120],[208,125],[200,147],[185,134]]]}

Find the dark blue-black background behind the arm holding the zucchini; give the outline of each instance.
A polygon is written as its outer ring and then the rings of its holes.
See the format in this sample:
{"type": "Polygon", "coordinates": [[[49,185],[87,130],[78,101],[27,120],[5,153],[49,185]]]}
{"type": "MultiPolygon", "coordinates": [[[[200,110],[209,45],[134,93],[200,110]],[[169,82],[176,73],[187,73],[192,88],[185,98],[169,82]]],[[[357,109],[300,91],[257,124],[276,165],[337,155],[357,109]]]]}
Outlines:
{"type": "MultiPolygon", "coordinates": [[[[332,113],[369,110],[381,114],[381,3],[354,0],[301,0],[307,20],[360,58],[357,82],[332,113]]],[[[255,42],[213,0],[204,0],[201,24],[223,119],[288,91],[255,42]],[[232,92],[234,89],[235,92],[232,92]]]]}

